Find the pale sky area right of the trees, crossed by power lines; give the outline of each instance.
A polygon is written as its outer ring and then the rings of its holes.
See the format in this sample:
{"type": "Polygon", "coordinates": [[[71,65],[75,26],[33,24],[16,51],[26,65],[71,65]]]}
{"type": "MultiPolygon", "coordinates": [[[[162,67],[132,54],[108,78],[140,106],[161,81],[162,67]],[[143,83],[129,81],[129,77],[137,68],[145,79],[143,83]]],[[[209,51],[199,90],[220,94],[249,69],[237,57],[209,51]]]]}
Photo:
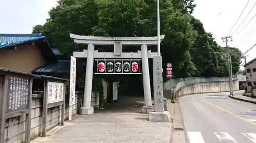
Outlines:
{"type": "MultiPolygon", "coordinates": [[[[225,46],[225,43],[222,42],[221,38],[225,37],[226,34],[230,31],[233,24],[237,21],[241,12],[243,11],[247,0],[195,0],[197,7],[195,8],[194,16],[201,20],[204,25],[204,28],[207,32],[214,34],[218,44],[225,46]]],[[[256,3],[256,0],[251,0],[248,3],[247,8],[245,9],[243,15],[234,26],[230,34],[237,29],[237,27],[244,20],[246,15],[249,13],[253,5],[256,3]]],[[[243,29],[243,27],[249,22],[249,20],[256,15],[256,6],[252,9],[251,13],[248,15],[243,24],[238,28],[236,32],[232,35],[233,41],[228,42],[228,45],[233,47],[238,47],[242,52],[245,52],[252,45],[256,43],[254,37],[256,36],[256,16],[252,21],[243,29]],[[243,29],[243,30],[242,30],[243,29]],[[242,30],[242,31],[241,31],[242,30]],[[241,31],[240,33],[238,33],[241,31]],[[238,34],[237,34],[238,33],[238,34]],[[250,36],[248,36],[252,33],[250,36]]],[[[256,47],[253,48],[247,55],[247,62],[254,59],[256,54],[256,47]]]]}

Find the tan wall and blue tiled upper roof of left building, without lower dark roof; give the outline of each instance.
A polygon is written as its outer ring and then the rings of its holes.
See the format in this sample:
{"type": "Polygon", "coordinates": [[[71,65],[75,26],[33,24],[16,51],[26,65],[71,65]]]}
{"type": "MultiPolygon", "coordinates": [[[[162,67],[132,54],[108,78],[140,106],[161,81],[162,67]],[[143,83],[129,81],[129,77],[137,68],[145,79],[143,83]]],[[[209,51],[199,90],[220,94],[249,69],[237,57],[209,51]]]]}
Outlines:
{"type": "Polygon", "coordinates": [[[57,62],[42,34],[0,34],[0,68],[32,73],[42,65],[57,62]]]}

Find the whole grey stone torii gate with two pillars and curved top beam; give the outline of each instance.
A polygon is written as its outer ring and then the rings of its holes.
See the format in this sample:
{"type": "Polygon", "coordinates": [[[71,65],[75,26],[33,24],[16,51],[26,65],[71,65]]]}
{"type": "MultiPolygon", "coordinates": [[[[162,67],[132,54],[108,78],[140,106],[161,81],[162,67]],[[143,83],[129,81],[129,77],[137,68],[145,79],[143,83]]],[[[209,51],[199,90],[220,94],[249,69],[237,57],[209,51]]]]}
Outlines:
{"type": "MultiPolygon", "coordinates": [[[[153,58],[157,52],[147,50],[147,45],[157,45],[157,37],[99,37],[99,36],[80,36],[70,34],[75,43],[88,44],[88,49],[73,52],[75,58],[87,58],[86,81],[84,87],[83,106],[79,109],[79,114],[88,115],[94,112],[91,106],[92,80],[93,80],[93,63],[94,58],[141,58],[142,75],[145,105],[142,107],[143,113],[154,111],[151,99],[150,72],[148,68],[148,58],[153,58]],[[94,45],[114,45],[114,52],[98,52],[94,50],[94,45]],[[141,46],[138,52],[122,52],[122,45],[141,46]]],[[[160,36],[160,41],[164,35],[160,36]]]]}

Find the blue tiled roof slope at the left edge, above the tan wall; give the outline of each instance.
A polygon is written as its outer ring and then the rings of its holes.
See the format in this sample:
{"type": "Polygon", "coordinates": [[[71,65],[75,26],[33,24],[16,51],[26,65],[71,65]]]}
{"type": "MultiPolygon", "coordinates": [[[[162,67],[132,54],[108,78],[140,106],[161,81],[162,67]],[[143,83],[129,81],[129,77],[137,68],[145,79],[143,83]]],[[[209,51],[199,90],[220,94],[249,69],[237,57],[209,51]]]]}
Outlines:
{"type": "Polygon", "coordinates": [[[42,34],[0,34],[0,48],[45,38],[42,34]]]}

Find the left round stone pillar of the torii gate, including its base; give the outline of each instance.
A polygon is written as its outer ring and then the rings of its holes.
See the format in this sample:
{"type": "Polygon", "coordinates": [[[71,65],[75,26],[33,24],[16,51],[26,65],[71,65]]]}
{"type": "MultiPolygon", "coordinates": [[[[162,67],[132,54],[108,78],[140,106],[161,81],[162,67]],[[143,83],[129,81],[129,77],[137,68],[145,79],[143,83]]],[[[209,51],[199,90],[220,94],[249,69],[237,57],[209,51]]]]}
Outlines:
{"type": "Polygon", "coordinates": [[[86,81],[84,84],[83,106],[79,109],[80,115],[89,115],[89,114],[93,114],[94,112],[94,109],[91,106],[93,62],[94,62],[93,52],[94,52],[94,45],[88,44],[87,63],[86,63],[86,81]]]}

